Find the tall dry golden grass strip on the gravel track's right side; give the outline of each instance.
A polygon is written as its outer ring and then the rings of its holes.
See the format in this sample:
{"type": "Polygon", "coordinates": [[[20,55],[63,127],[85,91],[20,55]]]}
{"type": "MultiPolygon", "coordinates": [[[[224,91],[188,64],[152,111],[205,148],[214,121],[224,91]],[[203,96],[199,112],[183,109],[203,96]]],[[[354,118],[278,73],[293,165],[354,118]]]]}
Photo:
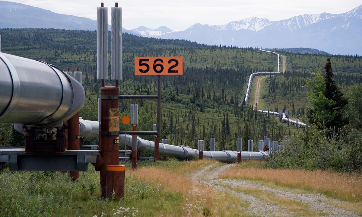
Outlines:
{"type": "Polygon", "coordinates": [[[324,193],[348,201],[362,201],[362,175],[329,171],[290,169],[230,168],[220,178],[266,180],[324,193]]]}

